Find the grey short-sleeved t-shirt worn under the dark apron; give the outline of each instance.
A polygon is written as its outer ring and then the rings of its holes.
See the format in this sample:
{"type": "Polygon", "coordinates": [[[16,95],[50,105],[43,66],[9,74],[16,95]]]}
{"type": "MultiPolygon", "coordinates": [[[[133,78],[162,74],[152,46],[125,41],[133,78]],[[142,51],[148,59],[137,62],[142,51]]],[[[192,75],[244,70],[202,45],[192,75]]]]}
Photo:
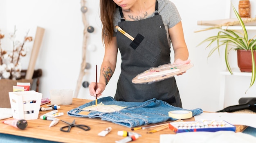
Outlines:
{"type": "MultiPolygon", "coordinates": [[[[158,11],[159,11],[159,15],[162,16],[162,20],[164,22],[168,43],[169,45],[171,45],[171,39],[168,33],[168,28],[172,28],[173,26],[175,26],[177,23],[181,21],[180,13],[178,12],[173,2],[171,2],[170,0],[158,0],[158,11]]],[[[152,15],[149,17],[153,17],[153,16],[154,16],[154,13],[152,13],[152,15]]],[[[113,36],[117,35],[116,33],[117,29],[115,28],[115,26],[117,26],[118,22],[121,22],[121,16],[120,16],[119,9],[117,8],[115,11],[114,20],[113,20],[114,31],[115,31],[113,36]]]]}

